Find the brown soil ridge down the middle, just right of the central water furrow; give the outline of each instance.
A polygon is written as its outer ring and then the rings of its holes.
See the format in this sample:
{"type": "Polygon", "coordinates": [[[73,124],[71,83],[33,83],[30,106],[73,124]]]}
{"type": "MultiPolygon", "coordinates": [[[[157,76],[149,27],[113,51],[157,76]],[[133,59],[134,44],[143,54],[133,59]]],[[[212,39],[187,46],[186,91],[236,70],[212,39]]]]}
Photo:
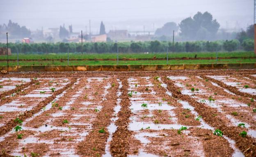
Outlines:
{"type": "Polygon", "coordinates": [[[121,95],[121,110],[118,113],[118,119],[116,121],[117,130],[113,133],[112,141],[110,144],[110,151],[113,157],[127,157],[129,152],[129,140],[132,136],[128,126],[130,123],[130,115],[132,114],[129,106],[130,100],[128,97],[128,80],[124,78],[122,80],[122,95],[121,95]]]}

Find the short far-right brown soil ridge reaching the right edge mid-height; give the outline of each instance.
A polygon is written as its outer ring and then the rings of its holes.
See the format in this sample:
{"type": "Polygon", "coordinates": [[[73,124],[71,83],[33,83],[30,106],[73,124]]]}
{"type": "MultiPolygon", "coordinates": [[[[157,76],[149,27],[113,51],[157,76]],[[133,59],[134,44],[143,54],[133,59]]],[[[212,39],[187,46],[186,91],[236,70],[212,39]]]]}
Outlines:
{"type": "Polygon", "coordinates": [[[256,99],[256,95],[251,95],[251,94],[248,94],[248,93],[245,93],[245,92],[238,91],[238,88],[226,85],[226,84],[224,84],[223,82],[221,82],[219,80],[207,77],[206,75],[201,75],[200,77],[202,77],[205,80],[209,80],[211,82],[214,82],[214,83],[218,84],[219,86],[221,86],[222,88],[226,88],[226,89],[228,89],[229,91],[231,91],[232,93],[234,93],[236,95],[240,95],[242,97],[249,97],[249,98],[256,99]]]}

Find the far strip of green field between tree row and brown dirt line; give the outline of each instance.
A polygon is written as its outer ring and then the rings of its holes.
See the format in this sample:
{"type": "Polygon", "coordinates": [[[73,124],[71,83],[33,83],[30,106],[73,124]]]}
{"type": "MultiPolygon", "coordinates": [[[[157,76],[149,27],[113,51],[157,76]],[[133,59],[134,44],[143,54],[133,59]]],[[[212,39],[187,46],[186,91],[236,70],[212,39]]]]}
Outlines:
{"type": "MultiPolygon", "coordinates": [[[[216,57],[216,52],[193,52],[193,53],[169,53],[169,58],[174,57],[194,57],[197,54],[197,57],[216,57]]],[[[256,55],[254,52],[218,52],[218,57],[255,57],[256,55]]],[[[119,54],[119,58],[165,58],[166,53],[121,53],[119,54]]],[[[68,54],[67,53],[50,53],[50,54],[19,54],[20,60],[38,60],[38,59],[67,59],[68,54]]],[[[116,53],[70,53],[69,59],[116,59],[117,54],[116,53]]],[[[0,60],[7,59],[7,55],[0,55],[0,60]]],[[[16,60],[17,54],[13,53],[12,55],[9,55],[9,59],[16,60]]]]}

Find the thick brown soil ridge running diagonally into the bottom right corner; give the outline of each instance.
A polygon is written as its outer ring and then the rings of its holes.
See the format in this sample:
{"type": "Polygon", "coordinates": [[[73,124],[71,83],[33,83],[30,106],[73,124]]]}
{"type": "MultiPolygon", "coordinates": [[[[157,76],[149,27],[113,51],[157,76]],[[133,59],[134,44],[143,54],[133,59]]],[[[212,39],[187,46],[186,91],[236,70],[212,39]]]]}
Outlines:
{"type": "Polygon", "coordinates": [[[223,120],[223,116],[217,115],[217,110],[206,106],[203,103],[197,102],[194,98],[188,95],[181,94],[180,89],[174,85],[174,82],[168,80],[167,77],[162,77],[163,81],[167,84],[167,89],[171,91],[172,96],[178,99],[187,101],[190,105],[194,106],[195,111],[199,115],[203,116],[205,120],[211,126],[222,130],[223,134],[230,137],[235,141],[236,146],[242,151],[245,157],[255,157],[256,155],[256,141],[250,136],[241,137],[239,133],[241,130],[238,127],[228,127],[223,120]],[[214,116],[216,114],[216,116],[214,116]]]}

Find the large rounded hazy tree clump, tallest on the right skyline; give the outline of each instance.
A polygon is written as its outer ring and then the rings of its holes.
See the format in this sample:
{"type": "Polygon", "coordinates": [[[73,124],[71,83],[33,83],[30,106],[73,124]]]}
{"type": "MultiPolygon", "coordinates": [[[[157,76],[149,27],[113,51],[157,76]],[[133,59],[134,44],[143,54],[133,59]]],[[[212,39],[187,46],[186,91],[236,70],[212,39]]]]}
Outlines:
{"type": "Polygon", "coordinates": [[[187,39],[211,40],[219,30],[219,23],[208,12],[198,12],[193,18],[185,18],[179,24],[180,35],[187,39]]]}

